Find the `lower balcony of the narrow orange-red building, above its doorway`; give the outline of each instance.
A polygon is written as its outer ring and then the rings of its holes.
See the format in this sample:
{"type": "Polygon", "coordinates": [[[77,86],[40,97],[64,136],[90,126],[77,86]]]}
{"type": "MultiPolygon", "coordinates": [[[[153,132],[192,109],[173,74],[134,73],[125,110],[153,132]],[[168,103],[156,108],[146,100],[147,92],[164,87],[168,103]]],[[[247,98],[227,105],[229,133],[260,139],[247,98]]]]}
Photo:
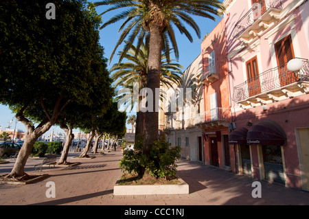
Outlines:
{"type": "Polygon", "coordinates": [[[220,126],[227,127],[229,125],[230,109],[225,107],[216,107],[210,111],[200,113],[194,119],[196,126],[202,128],[220,128],[220,126]]]}

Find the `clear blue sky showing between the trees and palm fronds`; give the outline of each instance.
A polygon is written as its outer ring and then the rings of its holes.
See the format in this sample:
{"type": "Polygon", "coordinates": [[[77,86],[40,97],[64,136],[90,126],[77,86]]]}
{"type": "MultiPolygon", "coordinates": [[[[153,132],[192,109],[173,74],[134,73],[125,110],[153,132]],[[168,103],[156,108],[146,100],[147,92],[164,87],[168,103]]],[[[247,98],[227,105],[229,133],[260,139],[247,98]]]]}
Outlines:
{"type": "MultiPolygon", "coordinates": [[[[96,1],[93,1],[96,2],[96,1]]],[[[105,6],[97,7],[96,10],[98,14],[100,14],[102,11],[104,11],[105,6]]],[[[108,12],[102,16],[102,21],[107,21],[108,19],[113,16],[113,14],[118,13],[120,10],[115,10],[115,12],[108,12]]],[[[206,33],[210,33],[211,30],[216,27],[218,22],[220,21],[220,17],[216,17],[216,21],[212,21],[210,19],[201,18],[198,16],[193,16],[194,21],[198,24],[198,26],[201,29],[201,39],[196,36],[194,30],[192,30],[190,27],[188,27],[188,30],[190,30],[190,33],[192,34],[192,37],[194,38],[194,42],[190,43],[190,41],[186,38],[185,35],[182,35],[176,30],[176,41],[177,45],[179,47],[179,63],[183,65],[183,71],[189,67],[189,65],[194,61],[194,59],[198,56],[198,54],[201,53],[201,43],[203,36],[205,36],[206,33]]],[[[100,44],[104,47],[104,56],[108,58],[111,56],[111,53],[117,43],[117,40],[119,38],[119,33],[117,32],[119,29],[119,26],[121,25],[121,22],[115,23],[113,25],[109,25],[105,27],[103,30],[100,30],[100,44]]],[[[122,47],[119,47],[117,51],[121,50],[122,47]]],[[[117,54],[117,52],[116,52],[117,54]]],[[[117,62],[117,56],[113,57],[113,60],[111,60],[111,64],[108,65],[108,69],[110,69],[113,64],[117,62]]],[[[0,126],[2,126],[2,129],[5,129],[5,127],[8,126],[8,122],[12,120],[14,117],[14,114],[11,113],[8,106],[3,106],[0,104],[0,126]]],[[[12,123],[12,128],[14,128],[15,125],[15,119],[14,123],[12,123]]],[[[21,129],[25,131],[25,126],[18,122],[16,124],[17,129],[21,129]]],[[[60,132],[63,132],[58,126],[52,127],[45,135],[48,135],[49,132],[52,131],[54,128],[54,131],[59,130],[60,132]]],[[[127,125],[127,128],[131,128],[130,125],[127,125]]],[[[77,130],[76,130],[77,131],[77,130]]]]}

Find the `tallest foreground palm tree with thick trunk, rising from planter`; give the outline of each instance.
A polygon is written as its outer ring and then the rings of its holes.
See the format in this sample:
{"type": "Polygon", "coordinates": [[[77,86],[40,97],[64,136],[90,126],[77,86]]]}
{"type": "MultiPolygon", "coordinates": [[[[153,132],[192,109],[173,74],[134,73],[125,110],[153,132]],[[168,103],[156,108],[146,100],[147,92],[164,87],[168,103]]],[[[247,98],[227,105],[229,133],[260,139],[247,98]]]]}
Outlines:
{"type": "MultiPolygon", "coordinates": [[[[124,9],[124,11],[113,16],[100,27],[102,29],[107,25],[125,19],[119,28],[119,32],[122,32],[122,34],[120,34],[113,54],[126,38],[128,38],[128,42],[124,50],[128,50],[130,45],[133,45],[135,39],[137,39],[137,45],[141,45],[141,41],[149,34],[147,87],[152,90],[155,97],[157,96],[155,90],[160,87],[161,51],[163,45],[168,45],[169,40],[174,48],[176,58],[179,56],[173,26],[181,34],[185,34],[192,42],[193,38],[182,21],[190,25],[198,37],[201,37],[200,29],[194,19],[192,19],[192,15],[215,20],[213,15],[220,14],[216,8],[223,10],[223,6],[218,0],[104,0],[95,3],[95,5],[111,5],[111,8],[106,9],[102,14],[112,10],[124,9]]],[[[165,46],[166,49],[170,48],[165,46]]],[[[113,57],[113,54],[111,57],[113,57]]],[[[155,106],[155,98],[153,99],[153,106],[155,106]]],[[[146,112],[146,117],[143,152],[144,154],[149,154],[152,143],[158,139],[159,112],[153,108],[152,111],[146,112]]]]}

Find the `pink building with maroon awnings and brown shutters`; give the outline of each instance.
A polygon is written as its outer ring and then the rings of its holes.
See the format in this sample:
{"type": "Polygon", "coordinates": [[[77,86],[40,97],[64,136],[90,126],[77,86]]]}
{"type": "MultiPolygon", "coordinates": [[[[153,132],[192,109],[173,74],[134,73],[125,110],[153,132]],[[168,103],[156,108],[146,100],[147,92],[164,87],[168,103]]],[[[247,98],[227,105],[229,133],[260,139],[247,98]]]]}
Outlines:
{"type": "Polygon", "coordinates": [[[225,0],[231,168],[309,190],[309,2],[225,0]],[[301,60],[299,71],[287,62],[301,60]]]}

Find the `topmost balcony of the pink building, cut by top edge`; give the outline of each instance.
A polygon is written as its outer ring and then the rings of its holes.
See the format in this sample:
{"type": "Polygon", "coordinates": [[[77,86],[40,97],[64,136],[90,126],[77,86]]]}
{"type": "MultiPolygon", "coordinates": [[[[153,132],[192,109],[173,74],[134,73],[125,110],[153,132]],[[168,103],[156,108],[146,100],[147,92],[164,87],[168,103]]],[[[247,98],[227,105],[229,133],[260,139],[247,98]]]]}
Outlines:
{"type": "Polygon", "coordinates": [[[260,0],[253,3],[253,7],[236,23],[233,37],[249,43],[251,38],[260,36],[279,20],[281,12],[282,1],[279,0],[260,0]]]}

